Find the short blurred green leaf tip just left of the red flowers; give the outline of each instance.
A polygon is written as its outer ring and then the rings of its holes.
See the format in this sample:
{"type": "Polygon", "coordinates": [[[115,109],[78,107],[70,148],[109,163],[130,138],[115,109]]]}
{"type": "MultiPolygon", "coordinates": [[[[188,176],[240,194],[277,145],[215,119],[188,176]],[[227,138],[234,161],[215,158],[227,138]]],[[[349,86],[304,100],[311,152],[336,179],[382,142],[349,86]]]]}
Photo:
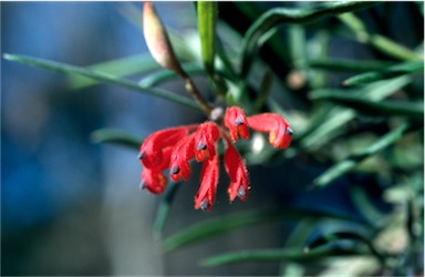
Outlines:
{"type": "Polygon", "coordinates": [[[100,129],[92,132],[91,140],[95,143],[116,143],[138,150],[144,138],[120,129],[100,129]]]}

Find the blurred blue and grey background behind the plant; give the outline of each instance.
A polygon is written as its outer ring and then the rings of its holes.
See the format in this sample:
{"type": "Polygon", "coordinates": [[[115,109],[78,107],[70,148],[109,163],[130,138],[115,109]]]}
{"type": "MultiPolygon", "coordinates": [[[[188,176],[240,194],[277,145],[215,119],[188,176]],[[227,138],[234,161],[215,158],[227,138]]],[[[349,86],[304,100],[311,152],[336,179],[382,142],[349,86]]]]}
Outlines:
{"type": "MultiPolygon", "coordinates": [[[[283,3],[259,6],[280,4],[283,3]]],[[[189,43],[196,41],[193,3],[158,2],[156,7],[165,24],[176,34],[188,39],[189,43]]],[[[388,22],[375,25],[375,21],[364,16],[365,22],[375,30],[384,31],[408,48],[423,42],[423,22],[417,20],[421,14],[414,3],[394,3],[392,8],[385,6],[372,13],[388,22]]],[[[234,3],[219,4],[219,17],[226,20],[226,30],[229,27],[236,30],[235,37],[247,30],[250,22],[247,14],[234,3]]],[[[147,48],[141,17],[142,3],[1,2],[1,53],[27,54],[80,66],[127,57],[142,63],[145,60],[141,54],[146,57],[147,48]]],[[[309,51],[314,53],[315,50],[309,51]]],[[[382,58],[343,38],[332,38],[329,51],[336,58],[382,58]]],[[[286,103],[286,106],[309,109],[305,105],[308,88],[302,83],[301,89],[297,83],[291,84],[291,76],[297,78],[292,65],[297,64],[274,64],[276,53],[267,48],[260,54],[278,72],[277,78],[288,80],[289,88],[301,95],[298,102],[286,103]]],[[[131,79],[138,81],[143,76],[134,74],[131,79]]],[[[329,76],[328,84],[339,85],[346,76],[346,73],[335,72],[329,76]]],[[[416,79],[416,88],[423,88],[423,76],[416,79]]],[[[205,78],[198,74],[195,80],[201,91],[209,92],[205,78]]],[[[152,234],[163,196],[139,191],[142,166],[137,151],[96,144],[92,132],[114,127],[145,137],[159,129],[197,123],[205,117],[185,106],[116,85],[77,88],[75,83],[66,75],[1,60],[2,275],[277,274],[279,265],[276,264],[208,268],[201,267],[199,259],[247,247],[280,247],[293,229],[292,224],[253,226],[163,255],[159,242],[152,234]]],[[[179,81],[167,82],[162,88],[185,95],[179,81]]],[[[279,82],[273,84],[274,93],[282,90],[288,86],[279,82]]],[[[367,140],[362,143],[367,144],[367,140]]],[[[423,152],[423,147],[415,150],[423,152]]],[[[423,156],[413,160],[423,165],[423,156]]],[[[392,211],[393,207],[382,199],[382,179],[373,174],[349,175],[332,188],[307,192],[312,179],[329,167],[329,163],[321,161],[299,155],[274,164],[252,165],[249,171],[253,187],[249,201],[229,205],[226,187],[221,186],[211,213],[193,208],[199,178],[199,172],[195,171],[195,176],[183,184],[176,195],[166,234],[206,218],[266,206],[339,211],[359,220],[371,219],[352,203],[346,189],[352,183],[369,187],[367,195],[375,204],[373,211],[392,211]]],[[[227,184],[226,177],[222,179],[227,184]]],[[[423,177],[418,182],[423,185],[423,177]]]]}

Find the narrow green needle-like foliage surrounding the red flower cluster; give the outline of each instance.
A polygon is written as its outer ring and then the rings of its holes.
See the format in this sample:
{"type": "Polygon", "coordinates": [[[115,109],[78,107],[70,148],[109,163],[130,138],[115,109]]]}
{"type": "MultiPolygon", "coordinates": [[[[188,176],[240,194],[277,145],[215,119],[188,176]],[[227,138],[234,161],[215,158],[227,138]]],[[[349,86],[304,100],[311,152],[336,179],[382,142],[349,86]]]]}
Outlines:
{"type": "MultiPolygon", "coordinates": [[[[248,164],[281,163],[303,157],[326,167],[311,184],[302,184],[310,189],[334,186],[348,174],[369,173],[384,179],[384,201],[394,207],[386,213],[377,211],[375,203],[367,197],[367,187],[353,181],[350,194],[366,220],[314,209],[237,212],[197,223],[166,237],[163,239],[165,252],[201,244],[214,236],[225,236],[228,232],[250,225],[290,222],[296,227],[287,245],[293,247],[225,253],[208,257],[203,264],[287,261],[281,267],[281,274],[286,275],[291,266],[303,268],[301,261],[320,264],[331,257],[344,259],[356,256],[374,257],[375,270],[370,273],[363,268],[360,274],[423,274],[423,264],[417,261],[423,256],[424,239],[423,45],[403,45],[403,42],[375,30],[367,30],[369,25],[364,22],[364,18],[373,19],[374,9],[382,6],[391,9],[393,3],[302,2],[293,4],[296,7],[262,8],[269,6],[237,2],[234,9],[249,21],[245,34],[241,30],[232,30],[230,22],[222,24],[230,21],[220,17],[219,11],[225,9],[225,4],[197,3],[201,54],[198,59],[194,48],[185,48],[185,51],[194,52],[182,63],[182,68],[178,65],[177,73],[166,69],[152,72],[154,65],[148,55],[87,68],[23,54],[4,54],[3,58],[69,74],[73,88],[92,85],[94,81],[112,83],[208,112],[209,107],[203,107],[196,98],[194,101],[155,88],[182,76],[182,72],[184,79],[185,74],[201,74],[208,80],[211,94],[227,105],[242,106],[248,114],[259,111],[279,113],[292,122],[294,136],[289,151],[263,148],[261,154],[255,154],[253,144],[247,143],[241,148],[248,164]],[[241,37],[231,35],[235,31],[239,31],[241,37]],[[333,58],[330,50],[332,38],[362,44],[373,59],[333,58]],[[261,51],[265,48],[270,50],[268,55],[261,51]],[[142,60],[146,62],[142,63],[142,60]],[[280,68],[273,66],[271,60],[280,68]],[[138,61],[138,66],[135,61],[138,61]],[[348,78],[338,74],[342,71],[348,78]],[[139,83],[126,79],[126,75],[142,72],[149,74],[139,83]],[[281,91],[272,92],[272,83],[278,84],[281,91]],[[330,232],[318,227],[330,222],[340,223],[340,227],[330,232]],[[350,228],[353,223],[361,227],[350,228]],[[383,243],[385,239],[401,239],[400,234],[407,237],[402,249],[391,249],[383,243]]],[[[423,6],[418,4],[416,9],[421,9],[418,13],[423,14],[423,6]]],[[[184,38],[180,39],[184,44],[184,38]]],[[[423,43],[423,34],[421,41],[423,43]]],[[[182,49],[175,50],[177,57],[183,55],[182,49]]],[[[143,141],[137,135],[108,129],[96,131],[93,140],[134,148],[138,148],[143,141]]],[[[154,227],[157,238],[163,237],[177,187],[178,184],[168,187],[158,208],[154,227]]],[[[332,268],[332,265],[329,267],[332,268]]]]}

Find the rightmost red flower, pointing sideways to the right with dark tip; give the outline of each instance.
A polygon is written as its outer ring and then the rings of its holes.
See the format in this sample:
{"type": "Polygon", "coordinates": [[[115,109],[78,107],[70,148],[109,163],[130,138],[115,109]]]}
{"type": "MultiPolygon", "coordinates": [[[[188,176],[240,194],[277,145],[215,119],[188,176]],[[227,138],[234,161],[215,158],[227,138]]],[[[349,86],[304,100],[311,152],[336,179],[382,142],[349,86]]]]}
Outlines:
{"type": "Polygon", "coordinates": [[[251,129],[269,133],[269,142],[274,147],[284,150],[291,144],[293,131],[283,116],[276,113],[261,113],[247,119],[251,129]]]}

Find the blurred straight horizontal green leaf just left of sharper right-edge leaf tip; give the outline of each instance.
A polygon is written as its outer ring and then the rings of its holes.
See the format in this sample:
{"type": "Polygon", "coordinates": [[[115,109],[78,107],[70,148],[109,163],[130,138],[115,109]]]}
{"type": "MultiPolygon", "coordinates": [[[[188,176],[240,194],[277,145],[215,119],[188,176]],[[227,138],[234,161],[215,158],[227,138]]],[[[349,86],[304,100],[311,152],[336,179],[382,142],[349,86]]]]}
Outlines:
{"type": "Polygon", "coordinates": [[[357,61],[343,59],[318,59],[308,61],[308,66],[329,71],[367,72],[384,70],[394,65],[394,62],[384,61],[357,61]]]}

